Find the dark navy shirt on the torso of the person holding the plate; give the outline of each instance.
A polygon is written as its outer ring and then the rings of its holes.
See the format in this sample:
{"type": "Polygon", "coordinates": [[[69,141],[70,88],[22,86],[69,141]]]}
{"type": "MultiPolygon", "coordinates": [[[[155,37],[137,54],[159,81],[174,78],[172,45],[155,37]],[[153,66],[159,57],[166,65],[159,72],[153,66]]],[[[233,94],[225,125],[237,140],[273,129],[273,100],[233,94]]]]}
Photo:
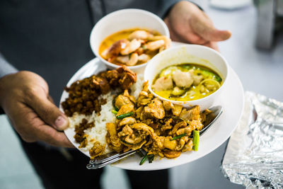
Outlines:
{"type": "MultiPolygon", "coordinates": [[[[18,70],[34,71],[42,76],[58,105],[67,81],[94,58],[89,35],[96,21],[121,8],[141,8],[163,16],[174,3],[168,0],[1,0],[0,52],[18,70]]],[[[5,64],[0,61],[1,67],[5,64]]]]}

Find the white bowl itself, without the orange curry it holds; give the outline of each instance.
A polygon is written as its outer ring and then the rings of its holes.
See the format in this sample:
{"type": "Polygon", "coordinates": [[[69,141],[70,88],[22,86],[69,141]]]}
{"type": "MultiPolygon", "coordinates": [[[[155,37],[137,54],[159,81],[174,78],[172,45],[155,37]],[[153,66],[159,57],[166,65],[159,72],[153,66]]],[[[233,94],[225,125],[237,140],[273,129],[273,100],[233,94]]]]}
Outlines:
{"type": "MultiPolygon", "coordinates": [[[[117,64],[112,64],[107,60],[103,59],[99,55],[99,47],[101,42],[109,35],[113,33],[117,33],[120,30],[126,30],[131,28],[145,28],[149,30],[156,30],[161,35],[166,35],[170,38],[169,30],[161,18],[156,16],[154,13],[150,13],[149,11],[144,11],[140,9],[122,9],[120,11],[115,11],[103,18],[96,23],[91,31],[91,50],[93,50],[96,57],[98,57],[102,62],[104,62],[110,69],[116,69],[120,67],[117,64]]],[[[139,64],[137,66],[129,67],[132,71],[136,71],[141,73],[144,71],[146,64],[139,64]]]]}

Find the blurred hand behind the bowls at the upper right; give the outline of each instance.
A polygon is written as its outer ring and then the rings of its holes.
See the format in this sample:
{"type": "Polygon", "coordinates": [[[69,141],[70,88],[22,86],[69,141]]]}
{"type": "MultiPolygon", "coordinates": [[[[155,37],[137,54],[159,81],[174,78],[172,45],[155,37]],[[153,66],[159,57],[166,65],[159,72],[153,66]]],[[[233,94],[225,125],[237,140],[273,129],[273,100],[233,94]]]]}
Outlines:
{"type": "Polygon", "coordinates": [[[180,1],[164,19],[171,39],[178,42],[205,45],[218,50],[216,42],[228,40],[229,30],[217,30],[206,13],[189,1],[180,1]]]}

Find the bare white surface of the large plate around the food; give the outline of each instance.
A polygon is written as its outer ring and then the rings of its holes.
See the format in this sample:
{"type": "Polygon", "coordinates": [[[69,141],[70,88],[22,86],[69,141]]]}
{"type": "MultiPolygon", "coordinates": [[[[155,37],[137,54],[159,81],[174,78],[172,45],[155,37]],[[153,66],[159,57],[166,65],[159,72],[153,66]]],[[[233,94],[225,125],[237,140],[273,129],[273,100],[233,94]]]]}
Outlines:
{"type": "MultiPolygon", "coordinates": [[[[175,43],[177,45],[177,43],[175,43]]],[[[74,81],[79,79],[84,79],[92,74],[97,74],[100,71],[107,69],[103,62],[100,62],[98,58],[92,59],[90,62],[85,64],[79,71],[74,74],[69,80],[67,86],[70,86],[74,81]]],[[[223,144],[226,139],[228,139],[233,130],[236,129],[238,121],[241,118],[243,113],[243,103],[244,103],[244,94],[243,86],[240,79],[231,67],[229,67],[229,78],[227,79],[227,85],[224,91],[222,91],[221,96],[217,99],[214,105],[222,105],[224,112],[220,116],[214,125],[210,127],[202,136],[200,137],[200,146],[198,151],[187,151],[183,152],[177,159],[160,159],[157,158],[153,161],[152,164],[149,164],[146,161],[142,166],[139,166],[139,161],[141,158],[137,155],[127,157],[127,159],[120,161],[119,163],[112,164],[112,166],[124,168],[128,170],[137,170],[137,171],[150,171],[158,170],[164,168],[171,168],[174,166],[180,166],[182,164],[187,164],[196,159],[200,159],[202,156],[209,154],[214,151],[217,147],[223,144]]],[[[62,97],[60,100],[60,110],[62,110],[61,103],[68,97],[68,93],[63,91],[62,97]]],[[[64,130],[64,133],[74,146],[79,149],[79,144],[74,140],[74,130],[68,128],[64,130]]],[[[79,149],[81,151],[81,149],[79,149]]],[[[81,151],[86,156],[89,156],[88,152],[81,151]]],[[[87,162],[86,162],[87,163],[87,162]]]]}

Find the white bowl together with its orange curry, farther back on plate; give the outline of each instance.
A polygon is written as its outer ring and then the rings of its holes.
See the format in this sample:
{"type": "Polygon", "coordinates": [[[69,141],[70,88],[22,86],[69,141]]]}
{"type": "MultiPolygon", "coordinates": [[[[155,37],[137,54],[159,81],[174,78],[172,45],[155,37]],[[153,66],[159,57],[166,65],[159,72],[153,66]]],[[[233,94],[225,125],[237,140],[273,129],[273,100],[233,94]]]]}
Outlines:
{"type": "Polygon", "coordinates": [[[103,17],[91,31],[91,49],[110,69],[123,65],[136,72],[171,45],[166,24],[140,9],[123,9],[103,17]]]}

